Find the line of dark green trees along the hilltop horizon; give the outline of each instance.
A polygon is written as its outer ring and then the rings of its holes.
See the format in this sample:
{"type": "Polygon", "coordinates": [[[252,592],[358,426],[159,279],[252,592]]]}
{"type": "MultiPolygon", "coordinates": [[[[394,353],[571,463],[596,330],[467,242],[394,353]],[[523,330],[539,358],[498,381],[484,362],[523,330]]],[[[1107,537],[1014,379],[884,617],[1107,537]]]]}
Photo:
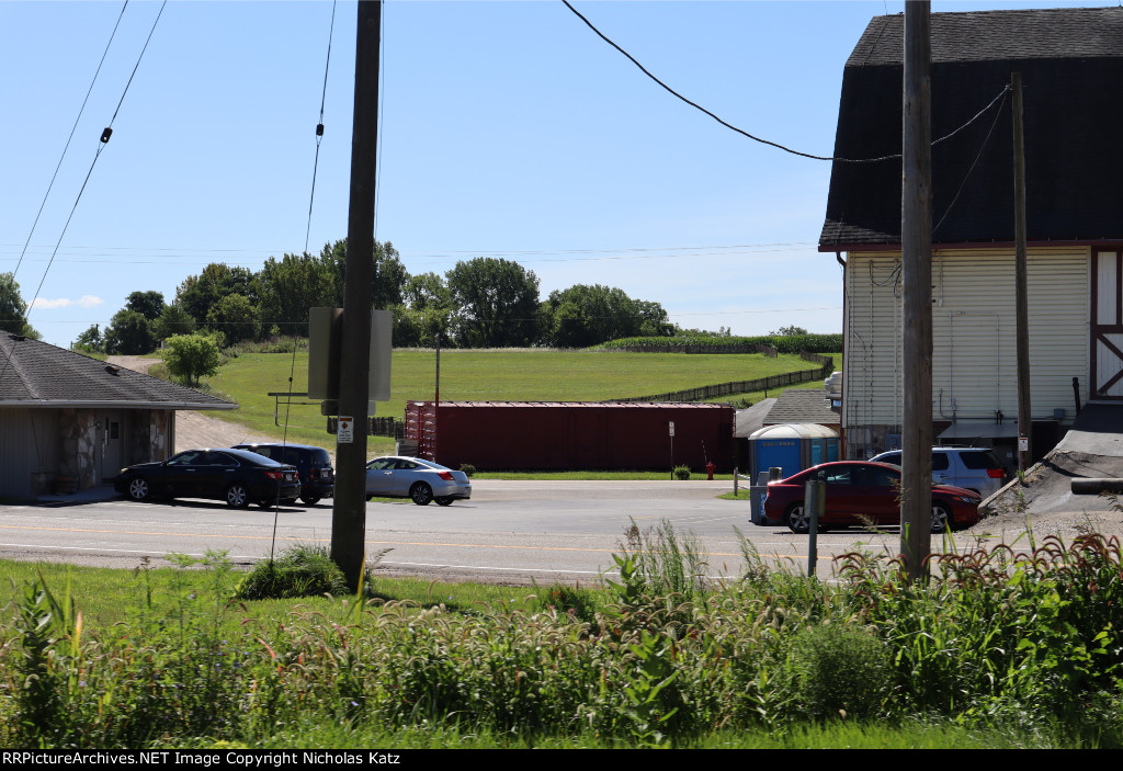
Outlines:
{"type": "MultiPolygon", "coordinates": [[[[431,348],[438,336],[447,347],[584,348],[684,331],[659,303],[633,300],[615,287],[576,284],[542,300],[533,270],[506,259],[476,257],[444,275],[410,275],[390,241],[376,241],[371,259],[372,305],[393,312],[396,348],[431,348]]],[[[92,324],[76,347],[138,355],[192,333],[210,334],[221,346],[307,337],[310,308],[343,306],[346,260],[344,239],[319,255],[270,257],[257,272],[211,263],[188,276],[171,303],[161,292],[133,292],[109,327],[92,324]]]]}

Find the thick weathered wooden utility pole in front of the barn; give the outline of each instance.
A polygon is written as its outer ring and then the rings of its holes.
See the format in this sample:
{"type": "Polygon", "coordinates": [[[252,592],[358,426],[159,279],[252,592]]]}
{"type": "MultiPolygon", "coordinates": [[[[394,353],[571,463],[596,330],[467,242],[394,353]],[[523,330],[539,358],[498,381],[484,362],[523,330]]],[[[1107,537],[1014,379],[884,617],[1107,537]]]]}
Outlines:
{"type": "Polygon", "coordinates": [[[905,2],[904,35],[901,557],[910,580],[922,580],[928,577],[932,549],[932,44],[928,0],[905,2]]]}

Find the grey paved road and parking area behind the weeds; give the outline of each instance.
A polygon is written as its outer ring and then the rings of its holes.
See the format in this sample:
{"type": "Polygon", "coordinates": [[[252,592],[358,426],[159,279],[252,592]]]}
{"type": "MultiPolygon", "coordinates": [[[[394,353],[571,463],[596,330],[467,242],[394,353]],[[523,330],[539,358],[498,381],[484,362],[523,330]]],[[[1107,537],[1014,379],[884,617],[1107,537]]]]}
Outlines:
{"type": "MultiPolygon", "coordinates": [[[[705,481],[477,480],[472,501],[448,507],[367,504],[367,553],[389,549],[384,570],[430,579],[595,580],[612,568],[632,520],[645,530],[666,520],[677,533],[697,536],[712,576],[741,571],[734,526],[761,557],[805,570],[807,536],[750,524],[748,502],[716,497],[729,489],[729,483],[705,481]]],[[[0,505],[0,558],[6,559],[134,568],[143,556],[201,556],[214,549],[249,566],[267,558],[274,543],[273,511],[229,510],[212,501],[0,505]]],[[[277,551],[296,543],[326,545],[330,536],[330,502],[284,507],[276,515],[277,551]]],[[[895,529],[821,535],[820,575],[833,556],[856,548],[895,553],[898,539],[895,529]]],[[[967,535],[956,540],[960,549],[974,542],[967,535]]]]}

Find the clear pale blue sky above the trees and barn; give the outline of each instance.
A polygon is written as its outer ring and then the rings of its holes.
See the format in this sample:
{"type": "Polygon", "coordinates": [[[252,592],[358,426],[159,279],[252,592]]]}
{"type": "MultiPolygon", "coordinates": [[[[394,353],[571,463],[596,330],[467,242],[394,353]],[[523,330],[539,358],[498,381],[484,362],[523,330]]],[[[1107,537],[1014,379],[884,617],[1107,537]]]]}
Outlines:
{"type": "MultiPolygon", "coordinates": [[[[833,147],[847,56],[871,17],[903,9],[573,2],[686,98],[819,155],[833,147]]],[[[108,324],[133,291],[171,302],[210,261],[256,270],[304,249],[331,2],[168,2],[94,164],[161,10],[122,6],[0,0],[0,272],[17,268],[121,18],[16,275],[36,297],[31,324],[60,346],[108,324]]],[[[311,251],[347,231],[355,15],[338,3],[311,251]]],[[[684,327],[842,329],[840,268],[815,250],[830,165],[676,100],[559,1],[390,0],[382,103],[376,238],[411,273],[503,257],[535,272],[544,299],[596,283],[684,327]]]]}

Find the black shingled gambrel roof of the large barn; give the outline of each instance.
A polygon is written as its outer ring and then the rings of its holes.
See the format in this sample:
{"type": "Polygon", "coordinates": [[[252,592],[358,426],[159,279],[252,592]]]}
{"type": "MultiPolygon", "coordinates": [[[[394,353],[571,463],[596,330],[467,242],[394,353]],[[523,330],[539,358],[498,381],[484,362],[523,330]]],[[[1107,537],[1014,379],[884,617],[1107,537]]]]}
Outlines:
{"type": "MultiPolygon", "coordinates": [[[[836,157],[901,152],[903,35],[903,16],[877,17],[855,47],[836,157]]],[[[1123,239],[1123,8],[933,13],[932,136],[970,120],[1012,72],[1023,82],[1029,240],[1123,239]]],[[[934,244],[1014,240],[1008,98],[1001,112],[996,105],[933,146],[932,187],[934,244]]],[[[900,158],[833,164],[819,242],[824,250],[901,242],[900,158]]]]}

